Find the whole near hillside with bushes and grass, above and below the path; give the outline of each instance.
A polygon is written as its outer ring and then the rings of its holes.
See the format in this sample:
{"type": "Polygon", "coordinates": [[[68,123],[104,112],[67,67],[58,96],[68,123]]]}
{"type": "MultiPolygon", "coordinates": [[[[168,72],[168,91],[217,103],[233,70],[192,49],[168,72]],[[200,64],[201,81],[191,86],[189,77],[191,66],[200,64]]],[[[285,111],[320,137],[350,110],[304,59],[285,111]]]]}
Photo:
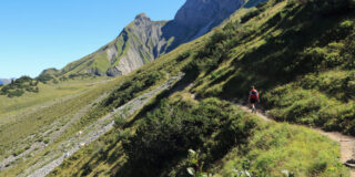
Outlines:
{"type": "Polygon", "coordinates": [[[240,10],[129,75],[98,110],[185,72],[128,119],[118,115],[111,132],[50,176],[349,176],[336,143],[302,126],[265,123],[235,102],[255,85],[277,121],[353,134],[354,8],[353,0],[270,0],[240,10]]]}

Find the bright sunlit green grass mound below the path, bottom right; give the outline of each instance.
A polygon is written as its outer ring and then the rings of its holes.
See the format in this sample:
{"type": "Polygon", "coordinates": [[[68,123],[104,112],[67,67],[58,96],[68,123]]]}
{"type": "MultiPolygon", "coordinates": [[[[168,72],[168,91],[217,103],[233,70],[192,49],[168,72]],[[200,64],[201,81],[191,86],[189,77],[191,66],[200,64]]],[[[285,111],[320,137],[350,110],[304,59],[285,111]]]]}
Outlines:
{"type": "Polygon", "coordinates": [[[243,169],[247,160],[253,176],[283,176],[284,170],[295,176],[346,176],[336,156],[337,145],[326,137],[306,128],[272,123],[262,125],[247,146],[231,150],[214,169],[216,177],[231,176],[233,169],[243,169]]]}

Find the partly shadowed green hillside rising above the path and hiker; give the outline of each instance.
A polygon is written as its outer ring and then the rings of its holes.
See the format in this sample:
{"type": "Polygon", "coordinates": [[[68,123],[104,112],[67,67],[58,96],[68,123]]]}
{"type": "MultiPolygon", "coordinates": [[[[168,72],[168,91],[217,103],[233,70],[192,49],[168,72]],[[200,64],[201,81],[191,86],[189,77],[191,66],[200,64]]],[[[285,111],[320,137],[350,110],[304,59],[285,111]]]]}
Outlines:
{"type": "Polygon", "coordinates": [[[193,92],[246,101],[256,85],[276,119],[354,135],[353,9],[347,0],[270,1],[252,9],[196,51],[185,67],[196,77],[193,92]]]}

